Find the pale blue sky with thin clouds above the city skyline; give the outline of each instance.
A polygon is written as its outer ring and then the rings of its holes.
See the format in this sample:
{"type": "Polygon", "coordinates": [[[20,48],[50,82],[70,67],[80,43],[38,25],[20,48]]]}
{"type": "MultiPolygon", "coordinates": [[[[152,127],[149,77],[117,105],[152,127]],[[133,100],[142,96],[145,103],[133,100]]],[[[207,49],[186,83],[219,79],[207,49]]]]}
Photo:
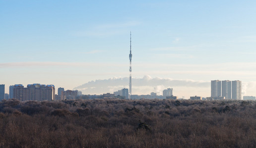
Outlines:
{"type": "Polygon", "coordinates": [[[132,94],[209,97],[219,79],[256,96],[255,16],[255,0],[0,0],[0,84],[128,88],[131,32],[132,94]]]}

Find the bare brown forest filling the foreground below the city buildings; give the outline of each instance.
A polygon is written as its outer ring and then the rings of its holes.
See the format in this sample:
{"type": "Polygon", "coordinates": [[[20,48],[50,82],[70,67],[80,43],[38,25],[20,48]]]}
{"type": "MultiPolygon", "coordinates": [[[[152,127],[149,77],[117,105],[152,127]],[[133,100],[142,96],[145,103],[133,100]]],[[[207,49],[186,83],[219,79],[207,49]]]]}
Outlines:
{"type": "Polygon", "coordinates": [[[0,102],[0,148],[256,148],[256,101],[0,102]]]}

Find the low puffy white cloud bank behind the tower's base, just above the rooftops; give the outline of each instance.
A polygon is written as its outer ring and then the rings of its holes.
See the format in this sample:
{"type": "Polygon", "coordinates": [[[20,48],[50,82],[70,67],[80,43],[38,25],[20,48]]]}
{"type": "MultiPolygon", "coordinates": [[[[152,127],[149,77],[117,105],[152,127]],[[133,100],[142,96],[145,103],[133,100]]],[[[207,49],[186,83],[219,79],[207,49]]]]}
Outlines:
{"type": "MultiPolygon", "coordinates": [[[[128,88],[128,77],[98,79],[95,81],[87,82],[81,86],[77,86],[74,89],[81,90],[83,94],[103,94],[106,92],[113,93],[122,88],[128,88]],[[87,88],[84,90],[84,88],[87,88]]],[[[206,81],[194,81],[194,80],[174,80],[171,78],[152,78],[149,75],[145,75],[142,78],[132,78],[132,92],[133,94],[150,94],[150,92],[157,92],[162,94],[163,89],[174,88],[176,92],[184,93],[183,96],[190,95],[190,89],[209,89],[210,82],[206,81]],[[186,88],[187,90],[183,90],[186,88]],[[180,90],[179,90],[180,89],[180,90]]]]}

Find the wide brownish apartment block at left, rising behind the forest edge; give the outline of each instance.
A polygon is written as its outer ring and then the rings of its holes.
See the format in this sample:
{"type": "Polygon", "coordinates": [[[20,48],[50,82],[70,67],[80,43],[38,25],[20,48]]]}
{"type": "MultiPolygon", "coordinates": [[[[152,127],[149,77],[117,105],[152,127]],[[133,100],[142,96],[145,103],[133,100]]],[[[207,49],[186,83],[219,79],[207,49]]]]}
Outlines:
{"type": "Polygon", "coordinates": [[[14,85],[13,98],[20,101],[55,100],[55,86],[44,84],[28,84],[25,88],[21,84],[14,85]]]}

